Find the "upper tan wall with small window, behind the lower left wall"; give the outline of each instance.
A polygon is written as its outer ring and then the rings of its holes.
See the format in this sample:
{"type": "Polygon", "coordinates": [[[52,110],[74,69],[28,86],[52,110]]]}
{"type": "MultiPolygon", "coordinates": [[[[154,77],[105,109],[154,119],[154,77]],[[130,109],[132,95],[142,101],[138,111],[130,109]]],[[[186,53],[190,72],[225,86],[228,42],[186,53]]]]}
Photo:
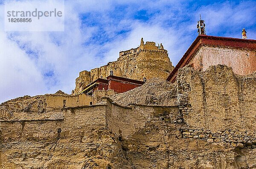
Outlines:
{"type": "Polygon", "coordinates": [[[113,94],[113,90],[96,90],[93,96],[45,94],[19,97],[0,104],[0,120],[52,118],[52,112],[61,111],[64,107],[97,104],[101,102],[101,97],[113,94]]]}

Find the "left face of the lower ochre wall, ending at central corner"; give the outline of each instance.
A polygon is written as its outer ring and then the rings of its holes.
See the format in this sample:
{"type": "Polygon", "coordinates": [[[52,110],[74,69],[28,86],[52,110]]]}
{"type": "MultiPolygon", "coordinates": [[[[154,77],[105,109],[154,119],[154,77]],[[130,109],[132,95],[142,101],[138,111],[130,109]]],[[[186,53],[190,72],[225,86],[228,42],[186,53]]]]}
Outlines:
{"type": "Polygon", "coordinates": [[[0,121],[1,140],[80,139],[81,132],[90,132],[90,127],[105,127],[105,105],[67,108],[64,111],[52,112],[51,116],[50,119],[37,119],[35,115],[35,118],[30,120],[21,118],[0,121]]]}

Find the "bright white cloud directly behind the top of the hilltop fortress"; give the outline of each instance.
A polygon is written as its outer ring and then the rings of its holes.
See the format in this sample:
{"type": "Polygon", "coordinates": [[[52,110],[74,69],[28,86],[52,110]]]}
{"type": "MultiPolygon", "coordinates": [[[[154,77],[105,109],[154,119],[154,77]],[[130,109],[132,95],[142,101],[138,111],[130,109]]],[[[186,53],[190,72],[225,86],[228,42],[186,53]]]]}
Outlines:
{"type": "MultiPolygon", "coordinates": [[[[145,25],[143,23],[134,23],[134,28],[128,37],[119,37],[115,42],[109,42],[105,48],[109,52],[105,55],[104,62],[111,62],[119,57],[119,51],[137,48],[140,45],[140,39],[143,37],[144,42],[154,41],[162,43],[165,49],[168,49],[171,61],[178,62],[177,56],[182,56],[186,50],[183,45],[186,38],[180,39],[174,28],[162,28],[159,25],[145,25]]],[[[175,64],[176,64],[175,63],[175,64]]]]}

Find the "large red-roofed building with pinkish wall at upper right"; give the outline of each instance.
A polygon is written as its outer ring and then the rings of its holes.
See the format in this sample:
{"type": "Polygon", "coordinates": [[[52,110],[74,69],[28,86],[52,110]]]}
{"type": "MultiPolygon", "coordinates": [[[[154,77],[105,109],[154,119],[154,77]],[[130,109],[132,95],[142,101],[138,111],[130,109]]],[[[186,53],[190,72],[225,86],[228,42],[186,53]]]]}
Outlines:
{"type": "Polygon", "coordinates": [[[205,71],[210,65],[227,65],[234,73],[256,71],[256,40],[199,35],[166,79],[175,82],[179,68],[186,65],[205,71]]]}

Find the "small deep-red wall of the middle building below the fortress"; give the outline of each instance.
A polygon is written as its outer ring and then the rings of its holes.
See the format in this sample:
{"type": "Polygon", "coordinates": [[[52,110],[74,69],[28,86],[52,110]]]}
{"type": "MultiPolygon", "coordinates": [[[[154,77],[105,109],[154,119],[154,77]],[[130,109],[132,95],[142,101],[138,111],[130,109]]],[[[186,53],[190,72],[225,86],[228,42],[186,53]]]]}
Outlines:
{"type": "Polygon", "coordinates": [[[110,79],[109,82],[108,82],[108,89],[112,89],[117,93],[127,92],[128,90],[132,90],[132,89],[134,89],[136,87],[139,87],[139,86],[141,86],[141,85],[116,81],[116,80],[113,80],[113,79],[110,79]]]}

